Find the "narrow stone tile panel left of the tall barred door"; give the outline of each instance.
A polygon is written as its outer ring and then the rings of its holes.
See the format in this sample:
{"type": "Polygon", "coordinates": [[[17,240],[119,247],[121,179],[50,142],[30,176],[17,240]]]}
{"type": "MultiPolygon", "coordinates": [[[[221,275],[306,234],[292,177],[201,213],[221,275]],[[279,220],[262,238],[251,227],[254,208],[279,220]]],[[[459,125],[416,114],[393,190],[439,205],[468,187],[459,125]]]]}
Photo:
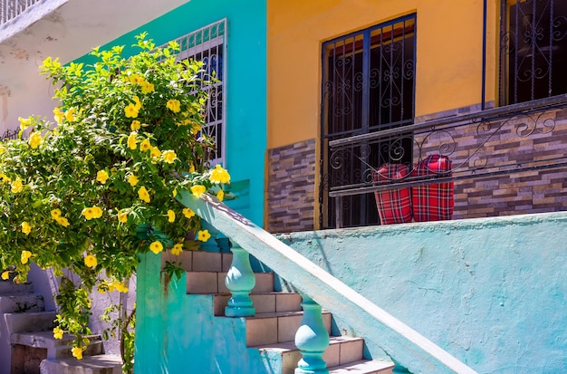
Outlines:
{"type": "Polygon", "coordinates": [[[270,233],[313,229],[315,139],[268,150],[267,222],[270,233]]]}

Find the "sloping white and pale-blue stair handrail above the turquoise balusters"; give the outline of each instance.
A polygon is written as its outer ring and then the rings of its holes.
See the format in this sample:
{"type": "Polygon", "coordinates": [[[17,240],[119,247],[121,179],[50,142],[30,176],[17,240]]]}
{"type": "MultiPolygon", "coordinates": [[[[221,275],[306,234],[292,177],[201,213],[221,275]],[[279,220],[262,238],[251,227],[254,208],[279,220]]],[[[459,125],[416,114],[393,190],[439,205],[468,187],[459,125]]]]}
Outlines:
{"type": "Polygon", "coordinates": [[[410,372],[476,373],[474,369],[467,367],[447,351],[213,197],[203,195],[197,198],[184,191],[179,194],[179,200],[233,243],[254,255],[287,282],[293,283],[294,287],[309,298],[333,315],[347,321],[355,331],[363,333],[366,340],[376,343],[410,372]]]}

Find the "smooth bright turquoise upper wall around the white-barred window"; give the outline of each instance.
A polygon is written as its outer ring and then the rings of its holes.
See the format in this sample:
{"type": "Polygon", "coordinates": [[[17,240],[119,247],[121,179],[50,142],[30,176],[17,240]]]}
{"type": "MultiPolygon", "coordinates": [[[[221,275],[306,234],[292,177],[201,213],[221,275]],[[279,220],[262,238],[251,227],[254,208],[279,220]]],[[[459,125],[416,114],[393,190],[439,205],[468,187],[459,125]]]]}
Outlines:
{"type": "MultiPolygon", "coordinates": [[[[256,225],[264,224],[266,150],[265,0],[191,0],[102,47],[135,42],[148,32],[158,45],[226,18],[226,168],[238,198],[226,202],[256,225]]],[[[132,53],[125,48],[124,53],[132,53]]],[[[78,62],[91,62],[84,56],[78,62]]]]}

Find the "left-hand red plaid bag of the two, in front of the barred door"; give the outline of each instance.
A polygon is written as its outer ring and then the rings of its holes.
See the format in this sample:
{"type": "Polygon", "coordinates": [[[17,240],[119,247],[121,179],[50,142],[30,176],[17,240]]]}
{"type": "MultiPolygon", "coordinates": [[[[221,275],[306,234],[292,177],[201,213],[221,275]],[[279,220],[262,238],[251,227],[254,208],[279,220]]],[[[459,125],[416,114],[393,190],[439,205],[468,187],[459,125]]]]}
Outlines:
{"type": "MultiPolygon", "coordinates": [[[[374,182],[401,179],[408,176],[408,167],[400,164],[384,164],[374,173],[374,182]]],[[[411,197],[409,188],[376,191],[376,206],[382,225],[411,222],[411,197]]]]}

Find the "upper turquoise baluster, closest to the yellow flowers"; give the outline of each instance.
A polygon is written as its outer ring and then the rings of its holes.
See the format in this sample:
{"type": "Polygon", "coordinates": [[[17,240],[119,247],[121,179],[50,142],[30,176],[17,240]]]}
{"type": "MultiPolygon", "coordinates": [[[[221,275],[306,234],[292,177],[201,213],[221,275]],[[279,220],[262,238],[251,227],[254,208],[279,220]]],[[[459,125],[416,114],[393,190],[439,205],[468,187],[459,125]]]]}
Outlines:
{"type": "Polygon", "coordinates": [[[233,243],[230,251],[233,253],[232,264],[226,273],[226,288],[232,293],[225,308],[227,317],[249,317],[255,315],[255,307],[250,292],[256,284],[255,274],[250,266],[250,254],[240,245],[233,243]]]}

